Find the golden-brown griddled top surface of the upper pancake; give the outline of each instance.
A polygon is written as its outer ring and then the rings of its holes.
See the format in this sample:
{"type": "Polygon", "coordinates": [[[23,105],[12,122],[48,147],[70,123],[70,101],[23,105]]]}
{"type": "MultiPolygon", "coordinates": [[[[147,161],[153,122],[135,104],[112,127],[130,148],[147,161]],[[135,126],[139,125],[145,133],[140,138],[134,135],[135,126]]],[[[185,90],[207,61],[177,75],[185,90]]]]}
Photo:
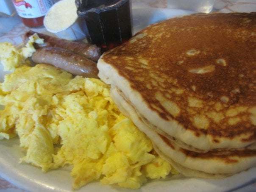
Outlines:
{"type": "Polygon", "coordinates": [[[164,120],[196,135],[256,140],[256,13],[194,14],[103,56],[164,120]]]}

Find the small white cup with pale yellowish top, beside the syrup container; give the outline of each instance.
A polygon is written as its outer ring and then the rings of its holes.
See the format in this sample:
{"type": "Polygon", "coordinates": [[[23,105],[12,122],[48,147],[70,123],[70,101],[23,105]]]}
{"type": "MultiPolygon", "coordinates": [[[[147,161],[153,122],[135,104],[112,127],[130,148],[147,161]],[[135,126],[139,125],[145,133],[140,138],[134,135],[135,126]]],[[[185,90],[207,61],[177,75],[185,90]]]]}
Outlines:
{"type": "Polygon", "coordinates": [[[58,1],[45,15],[45,28],[61,39],[70,41],[84,39],[86,24],[78,17],[76,10],[75,0],[58,1]]]}

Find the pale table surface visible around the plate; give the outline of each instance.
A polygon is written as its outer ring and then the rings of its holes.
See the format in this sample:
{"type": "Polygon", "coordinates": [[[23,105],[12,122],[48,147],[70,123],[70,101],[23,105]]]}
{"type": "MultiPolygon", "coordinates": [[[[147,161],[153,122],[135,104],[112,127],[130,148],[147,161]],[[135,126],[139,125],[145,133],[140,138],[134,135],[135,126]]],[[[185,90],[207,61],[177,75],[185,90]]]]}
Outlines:
{"type": "MultiPolygon", "coordinates": [[[[170,8],[169,0],[132,0],[133,8],[170,8]]],[[[216,0],[213,11],[228,12],[253,12],[256,11],[256,0],[216,0]]],[[[0,17],[0,42],[11,42],[19,45],[22,42],[22,34],[30,28],[23,25],[15,14],[13,17],[0,17]]],[[[32,29],[34,31],[45,30],[44,27],[32,29]]],[[[1,171],[1,170],[0,170],[1,171]]],[[[239,189],[236,192],[256,191],[256,182],[239,189]]],[[[25,190],[9,183],[0,177],[0,192],[26,192],[25,190]]]]}

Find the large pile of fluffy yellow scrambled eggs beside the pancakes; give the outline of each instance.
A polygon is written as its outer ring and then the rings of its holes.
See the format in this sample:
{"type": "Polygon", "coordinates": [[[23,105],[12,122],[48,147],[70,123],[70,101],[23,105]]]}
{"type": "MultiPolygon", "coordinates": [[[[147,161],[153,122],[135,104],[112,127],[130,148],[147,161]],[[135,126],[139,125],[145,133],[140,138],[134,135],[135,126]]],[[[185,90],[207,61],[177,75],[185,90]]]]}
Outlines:
{"type": "Polygon", "coordinates": [[[177,173],[120,113],[108,85],[47,64],[17,67],[21,55],[14,51],[4,58],[7,69],[17,69],[0,83],[0,139],[19,136],[26,150],[21,162],[44,172],[72,165],[74,189],[95,180],[137,189],[148,179],[177,173]]]}

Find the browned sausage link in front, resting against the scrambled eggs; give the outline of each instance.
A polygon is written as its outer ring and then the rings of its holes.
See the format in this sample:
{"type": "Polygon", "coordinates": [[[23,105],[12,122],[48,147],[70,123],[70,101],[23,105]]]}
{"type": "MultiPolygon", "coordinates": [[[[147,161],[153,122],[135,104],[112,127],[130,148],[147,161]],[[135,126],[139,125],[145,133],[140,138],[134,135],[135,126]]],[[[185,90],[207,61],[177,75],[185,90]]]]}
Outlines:
{"type": "Polygon", "coordinates": [[[51,64],[73,75],[98,78],[98,69],[94,61],[59,47],[41,47],[32,55],[35,63],[51,64]]]}

